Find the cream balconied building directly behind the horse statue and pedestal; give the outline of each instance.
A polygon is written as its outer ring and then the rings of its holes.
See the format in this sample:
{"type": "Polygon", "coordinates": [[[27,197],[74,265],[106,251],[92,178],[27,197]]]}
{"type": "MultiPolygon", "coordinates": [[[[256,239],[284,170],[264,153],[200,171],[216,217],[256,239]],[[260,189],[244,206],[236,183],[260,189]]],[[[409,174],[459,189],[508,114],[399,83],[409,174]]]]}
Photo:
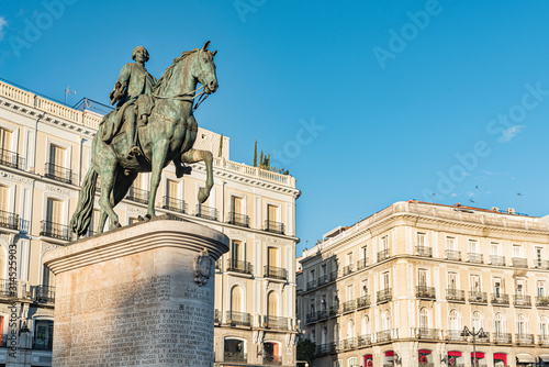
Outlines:
{"type": "MultiPolygon", "coordinates": [[[[68,223],[101,119],[90,109],[71,109],[0,82],[0,367],[51,365],[55,279],[43,256],[75,240],[68,223]],[[10,357],[11,334],[15,357],[10,357]]],[[[199,129],[194,146],[215,157],[208,201],[197,200],[204,165],[192,165],[182,179],[170,165],[157,193],[157,214],[210,226],[232,241],[215,270],[215,366],[291,366],[301,191],[292,176],[232,162],[229,138],[220,144],[221,138],[199,129]]],[[[148,186],[149,175],[139,175],[116,207],[123,225],[145,215],[148,186]]],[[[99,192],[90,234],[97,232],[98,198],[99,192]]]]}

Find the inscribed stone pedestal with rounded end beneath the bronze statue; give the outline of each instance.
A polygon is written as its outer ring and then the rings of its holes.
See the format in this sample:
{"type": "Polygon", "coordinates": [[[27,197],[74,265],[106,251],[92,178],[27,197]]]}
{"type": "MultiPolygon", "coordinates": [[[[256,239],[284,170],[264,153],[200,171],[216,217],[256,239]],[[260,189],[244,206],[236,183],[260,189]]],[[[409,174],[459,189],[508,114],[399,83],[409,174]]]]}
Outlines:
{"type": "Polygon", "coordinates": [[[47,253],[52,366],[213,366],[214,268],[227,251],[217,231],[156,220],[47,253]]]}

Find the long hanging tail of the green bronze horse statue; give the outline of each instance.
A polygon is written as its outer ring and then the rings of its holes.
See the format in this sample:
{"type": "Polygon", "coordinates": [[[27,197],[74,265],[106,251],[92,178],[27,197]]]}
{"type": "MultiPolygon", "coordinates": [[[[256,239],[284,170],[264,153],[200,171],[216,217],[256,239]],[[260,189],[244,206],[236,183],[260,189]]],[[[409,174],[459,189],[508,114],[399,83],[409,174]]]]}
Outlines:
{"type": "Polygon", "coordinates": [[[79,236],[83,236],[90,226],[97,181],[98,171],[91,166],[83,179],[82,188],[78,194],[78,205],[70,219],[70,227],[79,236]]]}

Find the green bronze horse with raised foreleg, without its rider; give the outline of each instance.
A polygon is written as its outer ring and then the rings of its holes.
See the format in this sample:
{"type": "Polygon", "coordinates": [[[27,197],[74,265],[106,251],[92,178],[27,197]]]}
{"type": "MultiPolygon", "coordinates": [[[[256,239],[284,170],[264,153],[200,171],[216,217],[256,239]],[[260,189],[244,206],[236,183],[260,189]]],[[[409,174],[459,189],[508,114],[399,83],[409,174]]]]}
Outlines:
{"type": "Polygon", "coordinates": [[[143,154],[128,158],[125,154],[128,142],[124,133],[115,136],[110,144],[101,140],[101,124],[92,142],[91,167],[86,175],[78,197],[78,205],[70,220],[70,227],[78,235],[85,235],[90,225],[96,185],[101,178],[101,207],[98,233],[103,232],[107,216],[110,229],[120,226],[119,216],[113,208],[125,197],[139,173],[152,173],[148,209],[145,220],[155,215],[155,198],[160,184],[163,168],[170,162],[176,165],[176,174],[184,173],[183,163],[203,160],[206,167],[205,187],[200,188],[198,200],[203,203],[213,187],[213,156],[208,151],[193,149],[198,124],[193,115],[197,85],[200,82],[205,96],[217,90],[214,56],[208,49],[210,42],[202,48],[184,52],[173,60],[158,80],[155,90],[155,105],[148,123],[139,126],[139,146],[143,154]]]}

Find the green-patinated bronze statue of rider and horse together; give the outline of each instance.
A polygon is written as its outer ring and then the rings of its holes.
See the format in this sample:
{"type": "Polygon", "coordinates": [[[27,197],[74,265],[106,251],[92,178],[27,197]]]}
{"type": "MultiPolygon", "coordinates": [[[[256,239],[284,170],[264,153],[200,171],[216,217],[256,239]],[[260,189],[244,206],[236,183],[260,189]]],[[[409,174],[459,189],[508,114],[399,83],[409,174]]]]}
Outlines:
{"type": "Polygon", "coordinates": [[[202,48],[183,52],[173,60],[159,80],[145,63],[149,55],[145,47],[135,47],[132,58],[122,68],[110,93],[116,109],[107,114],[99,125],[91,147],[91,166],[78,197],[70,227],[79,236],[87,233],[93,213],[93,199],[100,177],[101,208],[97,232],[103,232],[107,218],[110,229],[121,226],[113,208],[126,196],[139,173],[152,173],[148,209],[144,220],[155,215],[155,198],[163,168],[170,162],[177,177],[190,174],[184,164],[204,162],[205,186],[199,189],[203,203],[213,187],[213,156],[211,152],[194,149],[198,124],[194,110],[217,90],[214,56],[210,41],[202,48]],[[198,84],[200,88],[197,88],[198,84]],[[200,91],[203,89],[203,91],[200,91]],[[200,91],[200,92],[199,92],[200,91]]]}

